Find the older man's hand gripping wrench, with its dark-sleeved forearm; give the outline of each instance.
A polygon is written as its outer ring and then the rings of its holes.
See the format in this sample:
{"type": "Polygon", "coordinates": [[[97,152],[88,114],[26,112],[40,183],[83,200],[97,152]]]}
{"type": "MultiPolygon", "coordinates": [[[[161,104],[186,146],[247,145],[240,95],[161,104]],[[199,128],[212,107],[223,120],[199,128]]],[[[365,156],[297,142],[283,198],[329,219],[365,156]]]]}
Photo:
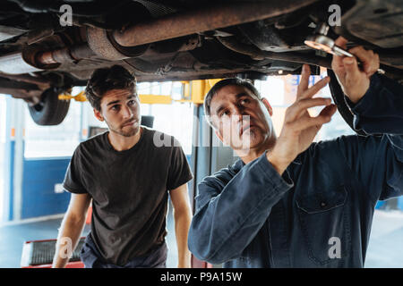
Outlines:
{"type": "MultiPolygon", "coordinates": [[[[336,44],[346,48],[347,40],[336,44]]],[[[354,126],[367,134],[403,134],[403,86],[377,74],[379,56],[362,46],[348,50],[355,58],[334,56],[332,68],[346,95],[347,105],[355,114],[354,126]]]]}

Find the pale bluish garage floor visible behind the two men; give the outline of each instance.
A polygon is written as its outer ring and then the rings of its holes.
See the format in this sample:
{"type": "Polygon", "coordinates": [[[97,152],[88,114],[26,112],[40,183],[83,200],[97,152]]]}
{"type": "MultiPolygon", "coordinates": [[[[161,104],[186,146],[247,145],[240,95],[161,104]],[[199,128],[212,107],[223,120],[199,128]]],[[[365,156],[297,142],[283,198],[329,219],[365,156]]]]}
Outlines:
{"type": "MultiPolygon", "coordinates": [[[[0,268],[19,268],[22,244],[27,240],[55,239],[61,218],[0,226],[0,268]]],[[[86,225],[82,235],[90,231],[86,225]]],[[[167,267],[176,267],[177,252],[171,208],[167,216],[167,267]]],[[[365,268],[403,267],[403,212],[377,210],[365,268]]]]}

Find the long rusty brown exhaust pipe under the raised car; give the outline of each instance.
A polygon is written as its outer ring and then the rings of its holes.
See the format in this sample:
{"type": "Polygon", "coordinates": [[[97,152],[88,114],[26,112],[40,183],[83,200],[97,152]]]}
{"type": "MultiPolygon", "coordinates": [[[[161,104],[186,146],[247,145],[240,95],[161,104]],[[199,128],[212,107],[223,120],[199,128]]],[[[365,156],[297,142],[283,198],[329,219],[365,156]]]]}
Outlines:
{"type": "Polygon", "coordinates": [[[83,31],[87,43],[46,52],[43,52],[40,45],[33,44],[22,53],[1,56],[0,71],[21,74],[51,70],[56,69],[61,63],[72,63],[93,55],[108,60],[122,60],[142,55],[153,42],[291,13],[316,1],[318,0],[282,0],[219,5],[188,13],[167,15],[149,22],[134,24],[124,30],[107,31],[89,27],[83,31]]]}

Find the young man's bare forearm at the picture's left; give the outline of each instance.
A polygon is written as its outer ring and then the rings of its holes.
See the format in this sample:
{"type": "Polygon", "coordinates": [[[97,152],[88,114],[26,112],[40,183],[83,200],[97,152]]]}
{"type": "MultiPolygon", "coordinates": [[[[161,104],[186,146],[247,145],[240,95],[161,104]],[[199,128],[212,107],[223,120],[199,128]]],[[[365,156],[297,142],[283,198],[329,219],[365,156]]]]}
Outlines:
{"type": "Polygon", "coordinates": [[[73,254],[84,227],[90,200],[89,194],[72,194],[57,237],[53,268],[64,268],[73,254]]]}

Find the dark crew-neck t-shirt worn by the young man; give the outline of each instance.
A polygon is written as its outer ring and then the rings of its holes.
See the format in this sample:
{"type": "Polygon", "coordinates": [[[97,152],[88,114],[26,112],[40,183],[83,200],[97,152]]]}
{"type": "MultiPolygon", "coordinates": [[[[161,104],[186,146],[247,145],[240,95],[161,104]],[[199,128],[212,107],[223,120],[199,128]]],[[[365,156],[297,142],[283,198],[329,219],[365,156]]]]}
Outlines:
{"type": "Polygon", "coordinates": [[[108,131],[74,151],[64,189],[92,198],[91,237],[106,262],[124,265],[165,240],[167,191],[192,180],[179,142],[142,126],[139,142],[116,151],[108,131]]]}

